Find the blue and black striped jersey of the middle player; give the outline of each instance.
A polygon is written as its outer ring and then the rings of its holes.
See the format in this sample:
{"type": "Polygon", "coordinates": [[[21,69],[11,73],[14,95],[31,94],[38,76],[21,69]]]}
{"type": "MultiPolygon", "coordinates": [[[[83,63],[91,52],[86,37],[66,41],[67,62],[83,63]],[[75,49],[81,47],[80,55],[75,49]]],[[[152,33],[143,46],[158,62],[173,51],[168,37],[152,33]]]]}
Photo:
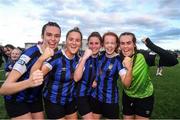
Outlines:
{"type": "Polygon", "coordinates": [[[83,76],[81,80],[77,83],[77,96],[89,96],[92,91],[92,82],[95,80],[97,66],[97,57],[89,57],[85,63],[83,76]]]}

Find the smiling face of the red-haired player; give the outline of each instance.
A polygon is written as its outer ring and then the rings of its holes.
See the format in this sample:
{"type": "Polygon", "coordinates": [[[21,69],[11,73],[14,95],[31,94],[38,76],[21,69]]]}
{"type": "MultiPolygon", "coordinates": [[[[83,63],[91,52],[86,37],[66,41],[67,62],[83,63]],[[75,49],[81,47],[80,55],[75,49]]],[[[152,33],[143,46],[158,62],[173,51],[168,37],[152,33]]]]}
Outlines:
{"type": "Polygon", "coordinates": [[[116,37],[113,35],[106,35],[103,42],[104,49],[108,55],[115,53],[117,47],[116,37]]]}

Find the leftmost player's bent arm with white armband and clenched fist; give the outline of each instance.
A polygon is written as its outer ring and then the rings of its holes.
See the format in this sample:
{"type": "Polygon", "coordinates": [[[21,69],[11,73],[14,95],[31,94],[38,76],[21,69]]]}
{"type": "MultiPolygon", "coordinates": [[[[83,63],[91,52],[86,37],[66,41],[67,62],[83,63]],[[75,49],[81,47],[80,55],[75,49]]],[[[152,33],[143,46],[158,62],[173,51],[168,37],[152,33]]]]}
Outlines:
{"type": "Polygon", "coordinates": [[[27,88],[36,87],[42,84],[43,74],[39,70],[32,72],[28,79],[18,81],[21,76],[27,72],[27,70],[29,70],[29,68],[27,68],[27,64],[31,61],[32,58],[30,56],[33,54],[29,51],[30,49],[21,55],[19,60],[15,63],[13,70],[10,72],[7,79],[0,88],[0,94],[14,94],[27,88]]]}

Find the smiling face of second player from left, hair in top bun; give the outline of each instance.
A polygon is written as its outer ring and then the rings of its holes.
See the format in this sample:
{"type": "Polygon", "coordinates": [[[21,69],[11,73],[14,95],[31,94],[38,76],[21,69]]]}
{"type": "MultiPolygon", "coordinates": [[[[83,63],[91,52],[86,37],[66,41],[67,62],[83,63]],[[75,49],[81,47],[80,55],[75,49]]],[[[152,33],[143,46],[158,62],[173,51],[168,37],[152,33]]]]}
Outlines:
{"type": "Polygon", "coordinates": [[[81,47],[81,35],[79,32],[70,32],[66,39],[65,53],[68,57],[73,57],[81,47]]]}

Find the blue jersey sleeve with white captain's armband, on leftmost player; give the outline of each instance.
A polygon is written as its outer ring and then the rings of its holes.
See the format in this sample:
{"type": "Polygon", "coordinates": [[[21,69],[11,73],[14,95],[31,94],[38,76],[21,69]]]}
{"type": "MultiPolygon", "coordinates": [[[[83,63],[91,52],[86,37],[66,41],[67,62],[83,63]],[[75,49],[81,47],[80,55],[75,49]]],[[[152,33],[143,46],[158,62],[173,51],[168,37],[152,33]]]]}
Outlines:
{"type": "Polygon", "coordinates": [[[24,74],[27,71],[27,64],[31,60],[31,55],[37,50],[36,46],[33,46],[24,51],[24,53],[20,56],[18,61],[15,63],[13,69],[17,70],[21,74],[24,74]]]}

